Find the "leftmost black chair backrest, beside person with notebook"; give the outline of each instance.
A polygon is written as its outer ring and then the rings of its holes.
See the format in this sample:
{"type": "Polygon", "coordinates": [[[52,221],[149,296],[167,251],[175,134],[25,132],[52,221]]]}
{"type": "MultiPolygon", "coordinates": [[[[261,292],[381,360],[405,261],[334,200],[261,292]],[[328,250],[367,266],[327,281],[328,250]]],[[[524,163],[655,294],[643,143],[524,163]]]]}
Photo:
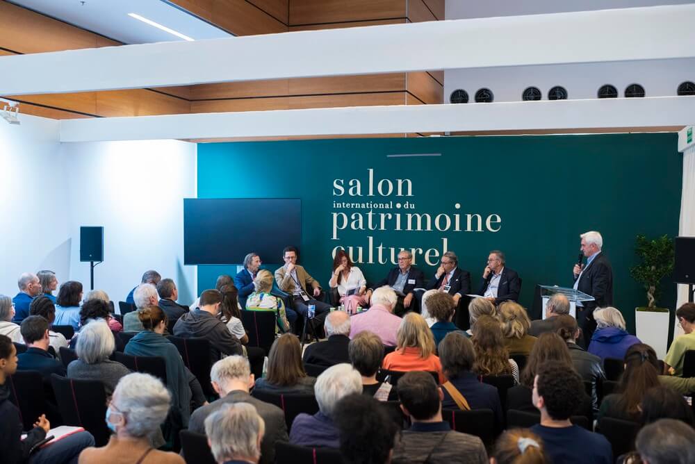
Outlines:
{"type": "Polygon", "coordinates": [[[22,430],[33,429],[36,419],[47,411],[42,374],[33,370],[18,370],[8,376],[6,383],[10,390],[10,401],[19,408],[19,418],[24,426],[22,430]]]}

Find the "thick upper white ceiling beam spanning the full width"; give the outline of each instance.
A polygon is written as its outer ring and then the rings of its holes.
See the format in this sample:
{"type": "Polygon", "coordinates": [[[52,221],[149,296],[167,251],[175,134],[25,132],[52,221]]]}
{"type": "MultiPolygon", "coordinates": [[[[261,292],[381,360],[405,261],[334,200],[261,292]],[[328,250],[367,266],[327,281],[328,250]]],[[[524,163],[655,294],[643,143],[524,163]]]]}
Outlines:
{"type": "Polygon", "coordinates": [[[0,94],[695,56],[695,4],[0,57],[0,94]]]}

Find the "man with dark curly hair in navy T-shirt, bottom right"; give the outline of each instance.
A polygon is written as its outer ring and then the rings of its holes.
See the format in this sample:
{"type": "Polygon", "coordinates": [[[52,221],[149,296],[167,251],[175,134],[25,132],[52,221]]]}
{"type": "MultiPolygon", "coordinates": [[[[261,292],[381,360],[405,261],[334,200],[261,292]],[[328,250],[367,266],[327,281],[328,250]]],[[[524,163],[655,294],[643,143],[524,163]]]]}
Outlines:
{"type": "Polygon", "coordinates": [[[566,363],[543,363],[533,384],[533,404],[541,411],[541,423],[531,431],[541,437],[555,463],[612,464],[608,440],[569,420],[580,406],[583,391],[582,378],[566,363]]]}

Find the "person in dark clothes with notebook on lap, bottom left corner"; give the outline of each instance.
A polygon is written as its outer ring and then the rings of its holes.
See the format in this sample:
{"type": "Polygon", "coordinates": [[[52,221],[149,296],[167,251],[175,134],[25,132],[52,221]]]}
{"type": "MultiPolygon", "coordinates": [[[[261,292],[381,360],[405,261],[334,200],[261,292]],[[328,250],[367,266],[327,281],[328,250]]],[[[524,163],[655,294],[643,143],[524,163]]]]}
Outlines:
{"type": "Polygon", "coordinates": [[[17,349],[6,335],[0,335],[0,456],[8,464],[31,462],[32,464],[76,462],[77,457],[86,447],[94,446],[94,437],[89,432],[74,433],[48,447],[29,453],[41,442],[51,424],[45,415],[37,417],[34,428],[26,432],[22,440],[22,420],[19,409],[10,401],[8,376],[17,370],[17,349]]]}

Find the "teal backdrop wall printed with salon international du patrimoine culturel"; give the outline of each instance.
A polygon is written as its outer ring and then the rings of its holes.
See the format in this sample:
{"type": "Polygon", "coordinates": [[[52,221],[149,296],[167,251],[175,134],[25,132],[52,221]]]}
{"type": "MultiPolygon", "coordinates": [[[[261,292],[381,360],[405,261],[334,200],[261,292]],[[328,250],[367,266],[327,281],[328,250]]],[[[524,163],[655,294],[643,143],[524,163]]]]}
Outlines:
{"type": "MultiPolygon", "coordinates": [[[[536,284],[572,285],[579,234],[598,230],[614,303],[634,331],[634,308],[646,303],[629,274],[635,235],[678,234],[676,143],[655,133],[199,144],[197,188],[199,198],[301,199],[302,243],[288,245],[325,286],[336,247],[361,261],[368,281],[386,275],[401,247],[415,249],[427,276],[445,249],[455,251],[474,288],[489,251],[501,249],[530,307],[536,284]]],[[[238,220],[282,233],[272,217],[238,220]]],[[[270,270],[281,263],[261,258],[270,270]]],[[[236,266],[199,266],[199,291],[221,273],[236,266]]],[[[666,283],[661,303],[675,299],[666,283]]]]}

